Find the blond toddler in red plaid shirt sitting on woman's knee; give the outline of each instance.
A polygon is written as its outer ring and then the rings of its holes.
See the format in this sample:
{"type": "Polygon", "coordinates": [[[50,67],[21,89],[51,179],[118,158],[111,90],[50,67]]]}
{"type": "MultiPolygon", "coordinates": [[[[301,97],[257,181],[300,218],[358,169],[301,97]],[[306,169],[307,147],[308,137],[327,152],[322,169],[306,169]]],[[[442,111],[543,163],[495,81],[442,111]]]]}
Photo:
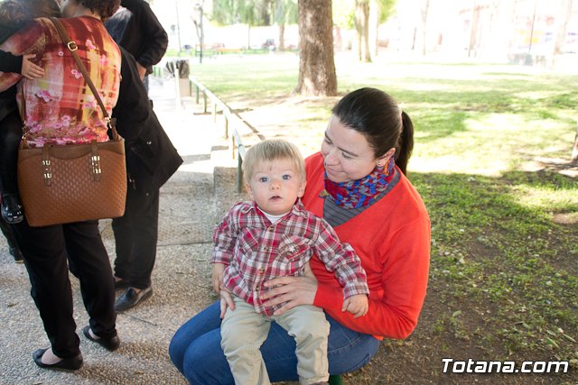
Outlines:
{"type": "Polygon", "coordinates": [[[368,312],[368,284],[359,257],[322,218],[305,210],[305,164],[297,147],[285,141],[259,142],[243,160],[251,201],[239,202],[214,233],[213,287],[221,293],[221,346],[235,383],[270,383],[259,352],[271,322],[293,335],[299,382],[329,380],[329,323],[321,307],[301,305],[278,315],[269,307],[264,284],[275,277],[305,275],[316,255],[343,287],[342,311],[368,312]]]}

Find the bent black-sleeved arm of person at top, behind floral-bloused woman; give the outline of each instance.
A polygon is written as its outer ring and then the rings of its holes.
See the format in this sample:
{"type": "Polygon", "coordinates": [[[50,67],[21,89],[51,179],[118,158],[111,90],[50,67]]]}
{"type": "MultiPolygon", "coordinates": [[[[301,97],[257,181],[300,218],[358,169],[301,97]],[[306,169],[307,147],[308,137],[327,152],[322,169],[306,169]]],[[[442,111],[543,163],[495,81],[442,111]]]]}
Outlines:
{"type": "Polygon", "coordinates": [[[147,69],[163,59],[169,45],[169,37],[151,9],[143,0],[124,0],[122,5],[133,13],[138,33],[143,34],[144,48],[135,57],[137,63],[147,69]]]}

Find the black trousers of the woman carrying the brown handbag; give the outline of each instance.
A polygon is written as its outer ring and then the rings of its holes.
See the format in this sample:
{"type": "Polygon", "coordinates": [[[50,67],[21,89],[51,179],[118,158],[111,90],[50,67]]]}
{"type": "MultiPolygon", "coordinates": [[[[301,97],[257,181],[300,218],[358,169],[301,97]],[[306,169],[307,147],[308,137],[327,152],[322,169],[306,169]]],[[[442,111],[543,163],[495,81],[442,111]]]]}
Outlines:
{"type": "Polygon", "coordinates": [[[67,257],[79,278],[92,331],[105,338],[117,335],[112,269],[98,221],[31,227],[24,220],[13,230],[52,351],[61,358],[79,354],[67,257]]]}

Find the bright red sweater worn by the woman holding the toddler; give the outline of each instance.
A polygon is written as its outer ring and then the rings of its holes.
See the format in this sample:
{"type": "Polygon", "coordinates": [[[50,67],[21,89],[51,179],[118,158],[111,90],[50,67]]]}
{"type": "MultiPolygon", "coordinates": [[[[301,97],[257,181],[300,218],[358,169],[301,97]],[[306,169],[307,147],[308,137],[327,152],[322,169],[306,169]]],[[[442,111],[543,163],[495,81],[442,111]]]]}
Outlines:
{"type": "MultiPolygon", "coordinates": [[[[307,166],[303,204],[322,216],[321,157],[313,155],[307,166]]],[[[319,286],[313,304],[360,333],[406,338],[414,331],[424,304],[429,272],[430,221],[421,197],[401,175],[385,197],[335,231],[341,242],[350,243],[358,253],[368,274],[368,314],[353,318],[341,312],[342,289],[316,258],[311,266],[319,286]]]]}

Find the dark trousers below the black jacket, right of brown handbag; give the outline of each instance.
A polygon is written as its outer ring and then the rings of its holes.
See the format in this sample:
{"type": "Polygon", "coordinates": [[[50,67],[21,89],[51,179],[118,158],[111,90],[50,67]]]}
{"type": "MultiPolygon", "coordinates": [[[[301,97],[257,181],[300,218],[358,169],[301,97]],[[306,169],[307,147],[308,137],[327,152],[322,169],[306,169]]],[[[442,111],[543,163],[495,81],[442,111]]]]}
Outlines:
{"type": "Polygon", "coordinates": [[[139,183],[139,170],[131,173],[135,182],[128,183],[125,215],[112,220],[117,259],[115,275],[128,280],[130,286],[151,286],[159,223],[159,189],[139,183]]]}

